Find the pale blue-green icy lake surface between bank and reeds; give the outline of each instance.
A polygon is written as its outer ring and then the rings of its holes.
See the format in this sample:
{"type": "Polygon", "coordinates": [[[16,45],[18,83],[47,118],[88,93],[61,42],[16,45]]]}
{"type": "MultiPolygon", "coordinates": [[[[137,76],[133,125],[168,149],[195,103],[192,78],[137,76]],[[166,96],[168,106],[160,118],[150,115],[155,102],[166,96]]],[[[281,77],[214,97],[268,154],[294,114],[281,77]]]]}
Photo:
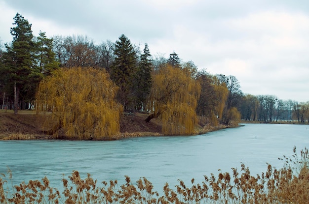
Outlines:
{"type": "Polygon", "coordinates": [[[218,175],[240,169],[241,162],[251,175],[267,170],[267,162],[282,168],[278,157],[291,157],[309,147],[308,125],[245,124],[198,136],[140,137],[118,141],[0,141],[0,173],[12,171],[13,183],[30,179],[50,180],[50,185],[63,190],[61,179],[72,171],[82,178],[89,173],[98,182],[118,180],[125,183],[145,176],[161,191],[165,182],[170,187],[182,179],[190,185],[204,180],[204,175],[218,175]]]}

